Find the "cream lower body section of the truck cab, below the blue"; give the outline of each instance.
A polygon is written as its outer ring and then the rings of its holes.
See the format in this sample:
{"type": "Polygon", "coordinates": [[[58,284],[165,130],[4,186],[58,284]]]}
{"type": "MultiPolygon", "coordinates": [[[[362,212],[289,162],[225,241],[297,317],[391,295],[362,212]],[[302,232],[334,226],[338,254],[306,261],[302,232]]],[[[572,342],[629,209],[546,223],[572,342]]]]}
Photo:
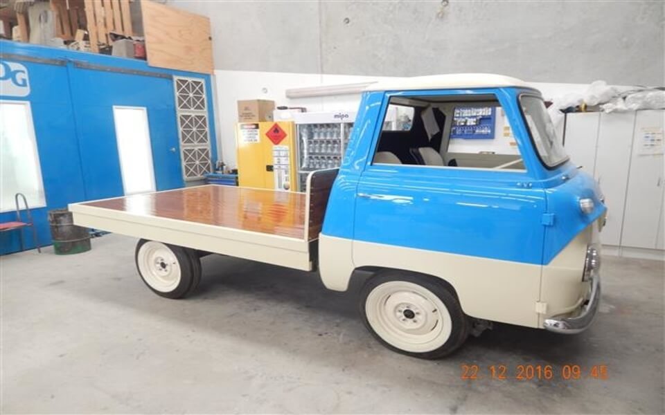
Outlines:
{"type": "Polygon", "coordinates": [[[582,273],[587,246],[597,235],[596,222],[540,266],[321,234],[319,272],[323,285],[335,291],[346,291],[353,270],[363,266],[433,275],[453,286],[471,317],[542,328],[546,318],[576,311],[589,293],[582,273]]]}

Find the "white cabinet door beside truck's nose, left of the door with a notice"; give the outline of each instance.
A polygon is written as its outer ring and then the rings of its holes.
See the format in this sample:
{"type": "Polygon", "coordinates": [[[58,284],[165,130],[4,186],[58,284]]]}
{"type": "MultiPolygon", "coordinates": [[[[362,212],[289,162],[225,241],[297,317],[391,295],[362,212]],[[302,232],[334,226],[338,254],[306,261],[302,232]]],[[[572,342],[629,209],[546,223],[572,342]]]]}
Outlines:
{"type": "Polygon", "coordinates": [[[601,185],[608,207],[608,223],[601,232],[606,245],[619,245],[635,112],[602,113],[598,127],[598,149],[594,177],[601,185]]]}

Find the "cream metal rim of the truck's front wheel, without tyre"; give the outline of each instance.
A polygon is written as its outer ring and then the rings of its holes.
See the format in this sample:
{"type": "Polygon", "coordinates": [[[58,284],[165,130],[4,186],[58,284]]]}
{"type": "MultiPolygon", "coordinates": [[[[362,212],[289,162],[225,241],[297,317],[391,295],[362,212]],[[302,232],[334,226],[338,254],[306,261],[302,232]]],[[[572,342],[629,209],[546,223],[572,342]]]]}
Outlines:
{"type": "Polygon", "coordinates": [[[367,296],[365,314],[380,338],[413,353],[438,349],[452,331],[450,313],[441,299],[412,282],[390,281],[375,287],[367,296]]]}

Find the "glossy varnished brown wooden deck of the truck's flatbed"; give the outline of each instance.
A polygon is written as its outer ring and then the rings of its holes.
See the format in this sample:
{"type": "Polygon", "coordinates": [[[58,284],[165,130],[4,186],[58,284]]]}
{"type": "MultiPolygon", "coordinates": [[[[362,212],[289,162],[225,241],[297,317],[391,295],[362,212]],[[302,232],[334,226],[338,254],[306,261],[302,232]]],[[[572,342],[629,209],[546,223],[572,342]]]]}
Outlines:
{"type": "Polygon", "coordinates": [[[81,203],[86,206],[304,239],[305,194],[222,185],[81,203]]]}

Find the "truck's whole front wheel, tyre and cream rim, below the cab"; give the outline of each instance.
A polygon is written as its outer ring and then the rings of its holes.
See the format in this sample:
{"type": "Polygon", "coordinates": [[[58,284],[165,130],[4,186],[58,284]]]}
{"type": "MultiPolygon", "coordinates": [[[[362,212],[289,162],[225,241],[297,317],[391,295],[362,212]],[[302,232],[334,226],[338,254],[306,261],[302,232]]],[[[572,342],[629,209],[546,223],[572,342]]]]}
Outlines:
{"type": "Polygon", "coordinates": [[[459,301],[433,277],[380,273],[362,288],[360,312],[384,346],[416,358],[443,358],[468,337],[459,301]]]}

